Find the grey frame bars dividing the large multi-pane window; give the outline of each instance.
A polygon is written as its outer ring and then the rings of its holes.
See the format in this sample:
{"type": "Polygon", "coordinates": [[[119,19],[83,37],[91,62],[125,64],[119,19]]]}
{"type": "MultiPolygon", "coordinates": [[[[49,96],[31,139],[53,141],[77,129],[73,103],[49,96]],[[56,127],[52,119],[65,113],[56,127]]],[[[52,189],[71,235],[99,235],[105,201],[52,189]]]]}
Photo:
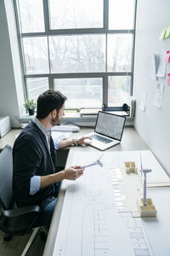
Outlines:
{"type": "MultiPolygon", "coordinates": [[[[18,0],[14,0],[14,12],[16,18],[16,26],[19,38],[20,46],[20,60],[21,67],[23,72],[24,80],[24,91],[25,97],[28,97],[26,79],[29,78],[48,78],[48,88],[54,89],[54,79],[76,79],[76,78],[102,78],[103,79],[103,102],[102,106],[108,107],[108,78],[110,76],[130,76],[130,96],[133,96],[133,65],[134,65],[134,49],[135,49],[135,30],[136,30],[136,12],[137,12],[137,0],[134,0],[134,15],[133,15],[133,29],[127,30],[109,30],[109,0],[103,0],[104,4],[104,26],[99,28],[73,28],[73,29],[49,29],[49,15],[48,15],[48,0],[42,0],[43,5],[43,15],[44,15],[44,27],[45,32],[20,32],[20,17],[18,12],[18,0]],[[107,72],[107,36],[110,34],[126,34],[130,33],[133,35],[132,43],[132,56],[131,56],[131,71],[130,72],[107,72]],[[51,73],[50,68],[50,54],[49,54],[49,42],[48,42],[48,65],[49,73],[36,73],[36,74],[26,74],[26,65],[25,65],[25,55],[24,47],[22,43],[22,38],[35,38],[45,36],[49,39],[49,36],[55,35],[80,35],[80,34],[104,34],[106,37],[105,41],[105,72],[103,73],[51,73]]],[[[89,106],[90,108],[90,106],[89,106]]],[[[113,110],[121,110],[120,107],[111,107],[113,110]]]]}

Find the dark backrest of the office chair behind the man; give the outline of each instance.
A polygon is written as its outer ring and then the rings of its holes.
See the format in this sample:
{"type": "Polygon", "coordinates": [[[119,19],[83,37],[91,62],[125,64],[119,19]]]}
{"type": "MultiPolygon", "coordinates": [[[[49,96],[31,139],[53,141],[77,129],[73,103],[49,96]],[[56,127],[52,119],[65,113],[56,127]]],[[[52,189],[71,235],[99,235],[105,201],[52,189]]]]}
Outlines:
{"type": "Polygon", "coordinates": [[[13,154],[12,148],[7,145],[0,153],[0,202],[5,210],[13,207],[13,154]]]}

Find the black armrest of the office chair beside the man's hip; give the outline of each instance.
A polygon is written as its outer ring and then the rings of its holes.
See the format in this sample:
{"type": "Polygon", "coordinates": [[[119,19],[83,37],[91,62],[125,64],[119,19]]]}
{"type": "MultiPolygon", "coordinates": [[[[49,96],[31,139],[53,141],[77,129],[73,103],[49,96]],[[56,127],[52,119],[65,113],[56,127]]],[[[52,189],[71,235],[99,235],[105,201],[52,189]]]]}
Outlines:
{"type": "Polygon", "coordinates": [[[3,215],[7,218],[17,217],[26,213],[40,212],[40,207],[38,206],[28,206],[28,207],[18,207],[11,210],[4,210],[2,207],[3,215]]]}

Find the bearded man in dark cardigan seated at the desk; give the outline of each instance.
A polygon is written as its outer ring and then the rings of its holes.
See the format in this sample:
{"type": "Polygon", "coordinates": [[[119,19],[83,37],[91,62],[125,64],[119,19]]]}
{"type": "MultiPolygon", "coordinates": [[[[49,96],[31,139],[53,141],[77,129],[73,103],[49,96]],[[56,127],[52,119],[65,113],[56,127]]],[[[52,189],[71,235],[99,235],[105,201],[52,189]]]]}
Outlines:
{"type": "MultiPolygon", "coordinates": [[[[60,182],[76,180],[83,173],[81,166],[71,166],[55,172],[55,148],[50,135],[54,125],[60,125],[66,97],[59,91],[47,90],[37,99],[37,117],[20,132],[13,148],[13,191],[18,207],[39,205],[41,212],[37,225],[49,225],[59,193],[60,182]]],[[[88,144],[77,139],[77,144],[88,144]]],[[[65,140],[56,143],[63,148],[75,143],[65,140]]]]}

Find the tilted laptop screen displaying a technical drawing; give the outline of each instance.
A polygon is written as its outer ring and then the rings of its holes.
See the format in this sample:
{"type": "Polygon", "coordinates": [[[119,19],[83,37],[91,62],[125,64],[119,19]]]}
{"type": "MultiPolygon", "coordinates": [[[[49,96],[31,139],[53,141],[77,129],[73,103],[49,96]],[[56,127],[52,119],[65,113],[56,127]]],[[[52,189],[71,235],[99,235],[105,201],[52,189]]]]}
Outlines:
{"type": "Polygon", "coordinates": [[[121,141],[125,120],[124,116],[99,111],[94,131],[121,141]]]}

